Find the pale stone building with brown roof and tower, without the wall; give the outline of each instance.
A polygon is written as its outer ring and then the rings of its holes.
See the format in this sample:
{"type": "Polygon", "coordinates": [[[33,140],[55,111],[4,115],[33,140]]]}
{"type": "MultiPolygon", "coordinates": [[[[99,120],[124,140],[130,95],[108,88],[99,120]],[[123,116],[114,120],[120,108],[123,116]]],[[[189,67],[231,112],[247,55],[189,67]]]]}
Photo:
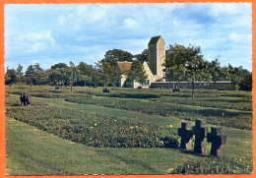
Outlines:
{"type": "Polygon", "coordinates": [[[163,38],[158,36],[153,36],[148,43],[148,57],[149,62],[143,63],[144,70],[148,78],[144,83],[139,84],[135,81],[130,81],[127,79],[128,73],[131,70],[133,62],[117,62],[117,70],[121,72],[121,78],[118,82],[119,87],[122,88],[138,88],[139,86],[150,87],[152,83],[156,81],[163,81],[163,63],[165,60],[165,42],[163,38]]]}

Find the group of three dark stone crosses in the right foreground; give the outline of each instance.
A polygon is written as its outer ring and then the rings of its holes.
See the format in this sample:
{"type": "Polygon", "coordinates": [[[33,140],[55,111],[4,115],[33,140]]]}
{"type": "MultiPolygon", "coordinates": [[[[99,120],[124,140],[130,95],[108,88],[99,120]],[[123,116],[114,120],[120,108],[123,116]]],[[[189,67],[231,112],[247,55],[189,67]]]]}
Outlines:
{"type": "Polygon", "coordinates": [[[220,156],[223,154],[222,145],[226,144],[226,136],[223,135],[223,128],[211,127],[211,133],[203,120],[196,119],[196,125],[191,127],[190,122],[182,122],[178,128],[178,136],[181,137],[180,148],[191,149],[191,139],[195,135],[194,152],[206,154],[206,139],[212,143],[210,155],[220,156]]]}

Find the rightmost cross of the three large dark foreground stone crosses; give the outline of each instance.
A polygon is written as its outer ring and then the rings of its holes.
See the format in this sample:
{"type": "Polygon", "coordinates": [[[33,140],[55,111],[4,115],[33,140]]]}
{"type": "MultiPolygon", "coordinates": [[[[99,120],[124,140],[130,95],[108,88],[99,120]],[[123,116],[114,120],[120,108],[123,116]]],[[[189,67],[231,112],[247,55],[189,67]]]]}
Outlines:
{"type": "Polygon", "coordinates": [[[226,136],[223,135],[223,128],[212,127],[211,133],[207,134],[207,142],[212,143],[210,155],[222,155],[223,149],[221,146],[226,144],[226,136]]]}

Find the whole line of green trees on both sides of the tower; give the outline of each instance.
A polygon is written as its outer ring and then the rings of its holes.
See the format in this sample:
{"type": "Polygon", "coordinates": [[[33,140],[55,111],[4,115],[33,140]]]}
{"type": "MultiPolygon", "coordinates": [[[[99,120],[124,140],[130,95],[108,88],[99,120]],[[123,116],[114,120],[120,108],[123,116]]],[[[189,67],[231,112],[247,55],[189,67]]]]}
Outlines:
{"type": "MultiPolygon", "coordinates": [[[[42,69],[38,63],[30,65],[26,72],[19,64],[17,69],[7,69],[5,84],[28,84],[28,85],[51,85],[51,86],[116,86],[121,73],[116,70],[118,61],[133,62],[128,73],[128,79],[139,83],[145,81],[147,76],[143,69],[143,62],[148,62],[148,51],[145,49],[141,54],[132,55],[130,52],[120,49],[108,50],[104,58],[97,61],[96,65],[88,65],[80,62],[75,66],[70,62],[58,63],[50,69],[42,69]]],[[[166,81],[230,81],[237,89],[251,90],[252,74],[240,67],[221,67],[218,58],[207,61],[201,54],[198,46],[174,44],[166,50],[164,63],[166,81]]]]}

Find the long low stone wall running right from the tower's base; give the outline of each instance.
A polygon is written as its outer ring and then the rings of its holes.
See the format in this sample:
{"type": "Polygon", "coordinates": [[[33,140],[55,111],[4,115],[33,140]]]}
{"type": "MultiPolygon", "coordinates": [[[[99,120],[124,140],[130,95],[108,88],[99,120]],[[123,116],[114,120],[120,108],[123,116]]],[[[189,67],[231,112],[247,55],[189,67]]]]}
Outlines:
{"type": "MultiPolygon", "coordinates": [[[[174,87],[179,86],[179,89],[192,89],[192,83],[190,82],[180,82],[179,84],[174,82],[174,87]]],[[[166,88],[166,89],[172,89],[173,83],[172,82],[155,82],[151,84],[151,88],[166,88]]],[[[195,89],[219,89],[224,88],[225,90],[235,90],[234,85],[232,85],[230,82],[196,82],[195,83],[195,89]]]]}

